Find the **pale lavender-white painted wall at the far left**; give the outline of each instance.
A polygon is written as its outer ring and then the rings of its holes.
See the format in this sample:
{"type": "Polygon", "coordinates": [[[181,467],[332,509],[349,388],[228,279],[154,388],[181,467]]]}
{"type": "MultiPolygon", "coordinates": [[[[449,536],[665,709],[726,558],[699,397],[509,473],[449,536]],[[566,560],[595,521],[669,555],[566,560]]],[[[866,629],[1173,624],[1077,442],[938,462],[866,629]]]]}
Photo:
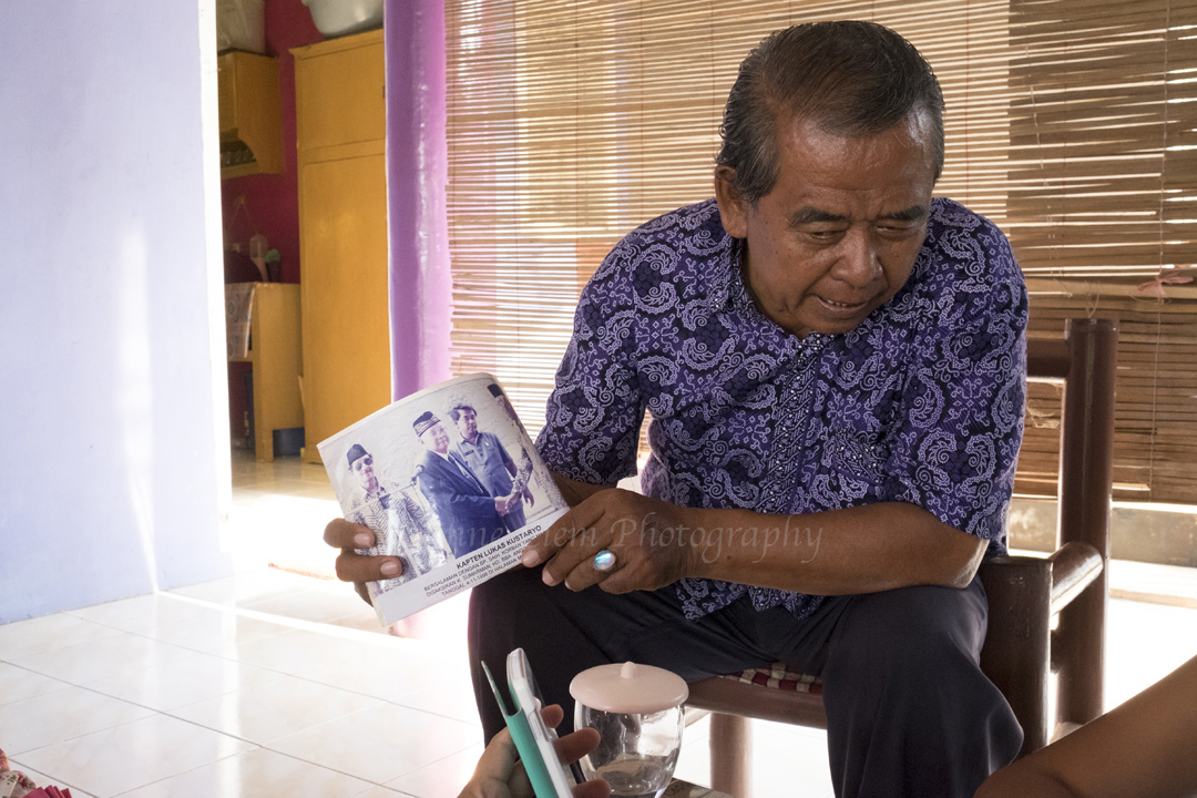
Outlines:
{"type": "Polygon", "coordinates": [[[231,572],[212,2],[0,0],[0,623],[231,572]]]}

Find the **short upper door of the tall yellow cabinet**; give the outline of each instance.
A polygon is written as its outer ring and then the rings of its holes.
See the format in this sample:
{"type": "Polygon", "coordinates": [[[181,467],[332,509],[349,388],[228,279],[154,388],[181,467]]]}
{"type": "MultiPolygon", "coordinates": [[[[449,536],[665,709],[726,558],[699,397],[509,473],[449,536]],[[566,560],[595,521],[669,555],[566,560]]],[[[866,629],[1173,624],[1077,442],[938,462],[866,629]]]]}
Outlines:
{"type": "Polygon", "coordinates": [[[382,38],[366,42],[328,53],[316,45],[296,59],[300,152],[387,135],[382,38]]]}

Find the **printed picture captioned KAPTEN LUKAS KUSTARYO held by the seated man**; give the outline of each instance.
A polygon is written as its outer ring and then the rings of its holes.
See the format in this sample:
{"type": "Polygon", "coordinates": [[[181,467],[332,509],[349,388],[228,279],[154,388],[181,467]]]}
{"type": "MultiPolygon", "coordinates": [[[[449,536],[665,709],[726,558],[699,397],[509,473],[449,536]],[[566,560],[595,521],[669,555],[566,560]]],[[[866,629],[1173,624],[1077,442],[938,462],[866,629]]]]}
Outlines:
{"type": "Polygon", "coordinates": [[[345,518],[375,531],[359,553],[403,565],[369,583],[384,626],[515,567],[569,510],[490,374],[407,396],[318,449],[345,518]]]}

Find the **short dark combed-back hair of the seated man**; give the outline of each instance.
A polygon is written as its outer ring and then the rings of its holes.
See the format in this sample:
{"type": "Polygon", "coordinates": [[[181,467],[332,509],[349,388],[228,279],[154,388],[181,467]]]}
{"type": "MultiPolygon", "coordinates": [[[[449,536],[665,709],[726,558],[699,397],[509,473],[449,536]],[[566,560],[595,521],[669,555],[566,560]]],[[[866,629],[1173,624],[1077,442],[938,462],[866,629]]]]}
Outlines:
{"type": "Polygon", "coordinates": [[[740,65],[716,157],[733,190],[755,203],[778,177],[778,134],[791,118],[849,138],[888,130],[910,114],[931,120],[935,178],[943,170],[943,92],[915,45],[875,23],[807,23],[774,31],[740,65]]]}

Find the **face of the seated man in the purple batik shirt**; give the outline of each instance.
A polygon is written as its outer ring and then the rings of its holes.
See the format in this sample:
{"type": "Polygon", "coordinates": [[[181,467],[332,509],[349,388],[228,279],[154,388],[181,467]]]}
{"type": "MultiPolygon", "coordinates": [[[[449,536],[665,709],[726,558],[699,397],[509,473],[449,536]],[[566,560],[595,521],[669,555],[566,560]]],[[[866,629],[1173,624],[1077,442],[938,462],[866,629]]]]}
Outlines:
{"type": "Polygon", "coordinates": [[[783,123],[777,184],[755,207],[734,196],[721,167],[723,227],[747,239],[745,284],[765,316],[800,337],[834,335],[898,293],[926,237],[930,136],[924,114],[855,139],[783,123]]]}

